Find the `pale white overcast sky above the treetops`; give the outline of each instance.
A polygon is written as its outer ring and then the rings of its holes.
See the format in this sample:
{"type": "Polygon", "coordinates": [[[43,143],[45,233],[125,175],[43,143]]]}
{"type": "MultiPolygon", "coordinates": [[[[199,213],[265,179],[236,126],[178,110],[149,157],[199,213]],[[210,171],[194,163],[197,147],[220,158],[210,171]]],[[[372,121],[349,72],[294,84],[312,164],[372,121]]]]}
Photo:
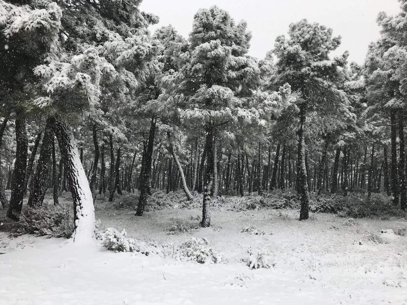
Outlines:
{"type": "Polygon", "coordinates": [[[228,11],[236,22],[247,21],[253,35],[252,56],[265,57],[277,35],[287,34],[291,22],[307,18],[333,28],[335,36],[341,35],[342,44],[335,54],[349,50],[349,60],[357,63],[363,63],[369,42],[379,38],[377,13],[399,11],[397,0],[144,0],[140,9],[160,17],[152,31],[172,24],[188,37],[196,11],[214,4],[228,11]]]}

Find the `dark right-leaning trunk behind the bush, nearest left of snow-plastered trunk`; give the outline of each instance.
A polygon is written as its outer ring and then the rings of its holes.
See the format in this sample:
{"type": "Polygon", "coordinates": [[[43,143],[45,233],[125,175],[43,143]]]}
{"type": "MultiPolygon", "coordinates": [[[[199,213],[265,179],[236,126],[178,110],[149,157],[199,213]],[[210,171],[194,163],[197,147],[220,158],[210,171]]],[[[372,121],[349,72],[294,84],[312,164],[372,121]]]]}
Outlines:
{"type": "Polygon", "coordinates": [[[44,201],[45,192],[47,190],[46,182],[48,172],[50,170],[50,157],[53,150],[53,118],[48,118],[44,138],[42,139],[41,152],[33,178],[33,186],[31,187],[30,196],[28,197],[28,207],[39,209],[44,201]]]}

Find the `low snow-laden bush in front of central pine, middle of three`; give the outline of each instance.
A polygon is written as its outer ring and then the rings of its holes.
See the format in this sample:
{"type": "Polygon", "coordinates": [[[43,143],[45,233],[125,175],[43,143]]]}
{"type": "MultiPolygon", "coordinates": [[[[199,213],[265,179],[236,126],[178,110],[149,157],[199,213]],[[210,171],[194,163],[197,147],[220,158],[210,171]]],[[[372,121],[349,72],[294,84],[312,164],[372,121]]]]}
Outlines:
{"type": "Polygon", "coordinates": [[[192,237],[178,246],[175,259],[180,261],[196,261],[199,264],[227,262],[223,253],[215,253],[212,248],[208,247],[208,240],[206,238],[198,237],[192,237]]]}

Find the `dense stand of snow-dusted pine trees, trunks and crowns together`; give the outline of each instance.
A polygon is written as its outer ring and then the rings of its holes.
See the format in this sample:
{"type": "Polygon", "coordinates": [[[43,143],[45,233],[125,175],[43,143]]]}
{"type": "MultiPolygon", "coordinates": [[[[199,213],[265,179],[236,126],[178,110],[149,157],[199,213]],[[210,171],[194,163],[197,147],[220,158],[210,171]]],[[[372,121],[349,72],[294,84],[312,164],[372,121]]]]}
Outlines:
{"type": "Polygon", "coordinates": [[[74,238],[94,236],[94,202],[157,190],[217,196],[372,193],[407,207],[407,1],[379,13],[365,62],[333,56],[341,37],[306,19],[264,59],[219,7],[188,37],[140,0],[0,1],[0,201],[18,221],[46,192],[71,192],[74,238]],[[11,190],[11,193],[7,192],[11,190]],[[10,198],[8,198],[8,195],[10,198]],[[25,201],[24,201],[25,203],[25,201]]]}

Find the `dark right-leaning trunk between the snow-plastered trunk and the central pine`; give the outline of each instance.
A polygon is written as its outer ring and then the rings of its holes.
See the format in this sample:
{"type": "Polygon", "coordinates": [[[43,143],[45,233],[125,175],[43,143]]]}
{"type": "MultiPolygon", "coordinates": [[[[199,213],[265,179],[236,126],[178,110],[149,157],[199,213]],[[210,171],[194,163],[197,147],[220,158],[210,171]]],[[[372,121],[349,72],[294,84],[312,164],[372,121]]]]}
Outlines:
{"type": "Polygon", "coordinates": [[[144,212],[144,207],[147,203],[147,195],[149,192],[149,185],[151,185],[150,177],[151,177],[151,161],[153,159],[153,148],[154,148],[154,137],[155,137],[155,126],[157,124],[157,118],[153,116],[151,118],[151,125],[150,125],[150,132],[149,132],[149,139],[147,142],[147,150],[146,155],[143,154],[143,159],[145,158],[144,163],[144,170],[140,173],[140,196],[138,198],[138,206],[136,216],[142,216],[144,212]]]}

